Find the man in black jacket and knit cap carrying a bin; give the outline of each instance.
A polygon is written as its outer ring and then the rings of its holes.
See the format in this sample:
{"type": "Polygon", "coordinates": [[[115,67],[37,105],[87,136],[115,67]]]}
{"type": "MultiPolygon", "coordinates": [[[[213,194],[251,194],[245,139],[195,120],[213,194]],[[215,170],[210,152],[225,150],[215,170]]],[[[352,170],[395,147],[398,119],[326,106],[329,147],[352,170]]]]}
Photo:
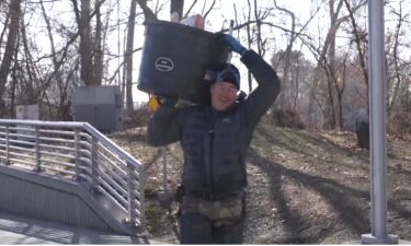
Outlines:
{"type": "Polygon", "coordinates": [[[237,101],[238,69],[227,63],[214,71],[212,104],[175,108],[167,98],[148,126],[155,147],[180,141],[184,153],[180,234],[182,244],[241,244],[246,209],[246,154],[252,133],[279,92],[273,68],[230,35],[222,39],[241,55],[258,82],[237,101]]]}

